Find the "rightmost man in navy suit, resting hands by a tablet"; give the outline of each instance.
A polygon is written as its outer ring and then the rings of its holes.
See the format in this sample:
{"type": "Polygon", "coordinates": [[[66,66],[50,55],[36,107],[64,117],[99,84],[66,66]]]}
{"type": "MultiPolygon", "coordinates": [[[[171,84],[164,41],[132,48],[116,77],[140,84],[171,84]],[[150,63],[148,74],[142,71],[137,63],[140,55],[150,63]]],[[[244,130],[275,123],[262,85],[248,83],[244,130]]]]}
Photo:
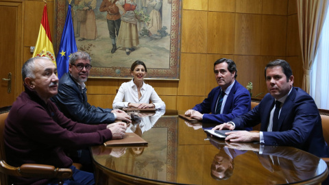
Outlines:
{"type": "Polygon", "coordinates": [[[217,125],[213,130],[239,130],[260,123],[259,133],[230,132],[226,140],[288,145],[318,157],[328,157],[329,149],[322,134],[317,106],[304,90],[293,87],[294,77],[289,63],[284,60],[269,62],[265,67],[265,79],[269,93],[258,106],[228,123],[217,125]]]}

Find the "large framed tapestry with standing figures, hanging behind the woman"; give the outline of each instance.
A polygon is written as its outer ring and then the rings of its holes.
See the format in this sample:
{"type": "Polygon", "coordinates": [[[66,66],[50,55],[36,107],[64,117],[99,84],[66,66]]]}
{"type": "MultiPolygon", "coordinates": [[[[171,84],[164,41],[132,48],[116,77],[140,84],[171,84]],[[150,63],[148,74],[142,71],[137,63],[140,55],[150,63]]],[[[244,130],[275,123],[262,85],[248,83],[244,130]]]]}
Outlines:
{"type": "MultiPolygon", "coordinates": [[[[86,51],[92,58],[93,68],[89,77],[131,78],[131,64],[141,60],[147,66],[147,79],[179,80],[182,0],[73,0],[71,5],[77,49],[86,51]],[[119,26],[115,25],[115,20],[110,20],[118,16],[114,15],[117,14],[115,11],[113,14],[110,11],[110,8],[119,6],[115,3],[117,1],[123,4],[132,1],[134,10],[127,12],[133,12],[135,23],[130,24],[123,17],[125,5],[123,9],[119,8],[119,26]],[[108,3],[112,3],[112,6],[108,3]],[[111,26],[111,21],[114,26],[111,26]],[[111,38],[110,31],[115,30],[112,27],[119,32],[114,31],[111,38]],[[118,34],[124,38],[120,30],[123,33],[129,29],[134,29],[134,32],[137,30],[136,36],[132,38],[134,44],[128,47],[125,45],[126,40],[118,41],[118,34]],[[113,49],[113,43],[117,49],[113,49]]],[[[58,46],[67,6],[67,0],[57,1],[58,46]]]]}

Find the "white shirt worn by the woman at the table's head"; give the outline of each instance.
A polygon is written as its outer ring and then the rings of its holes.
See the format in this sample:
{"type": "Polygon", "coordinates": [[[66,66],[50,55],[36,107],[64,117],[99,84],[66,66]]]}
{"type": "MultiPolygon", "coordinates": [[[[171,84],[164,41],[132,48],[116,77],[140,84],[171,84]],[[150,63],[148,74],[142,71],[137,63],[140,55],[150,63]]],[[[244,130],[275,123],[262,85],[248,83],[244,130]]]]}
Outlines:
{"type": "Polygon", "coordinates": [[[141,95],[141,99],[138,99],[138,90],[133,79],[130,82],[124,82],[121,84],[112,106],[113,108],[127,108],[128,103],[149,103],[151,100],[157,110],[166,109],[166,104],[156,94],[156,90],[145,82],[141,87],[141,95]]]}

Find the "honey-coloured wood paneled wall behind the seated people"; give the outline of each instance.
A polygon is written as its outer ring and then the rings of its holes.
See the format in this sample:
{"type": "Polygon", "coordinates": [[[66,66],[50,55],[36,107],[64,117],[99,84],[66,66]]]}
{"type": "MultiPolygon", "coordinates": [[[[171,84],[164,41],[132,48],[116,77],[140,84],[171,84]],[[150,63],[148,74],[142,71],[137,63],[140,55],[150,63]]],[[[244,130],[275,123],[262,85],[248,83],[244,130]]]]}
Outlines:
{"type": "MultiPolygon", "coordinates": [[[[24,60],[32,56],[42,15],[43,1],[25,1],[24,60]],[[37,12],[37,13],[36,13],[37,12]]],[[[51,33],[53,1],[48,1],[51,33]]],[[[55,40],[53,38],[53,40],[55,40]]],[[[302,84],[296,0],[182,0],[180,81],[147,80],[168,109],[187,110],[200,103],[217,86],[213,63],[219,58],[236,62],[237,80],[253,82],[253,95],[267,93],[265,65],[287,60],[302,84]]],[[[88,79],[88,101],[112,108],[123,79],[88,79]]]]}

